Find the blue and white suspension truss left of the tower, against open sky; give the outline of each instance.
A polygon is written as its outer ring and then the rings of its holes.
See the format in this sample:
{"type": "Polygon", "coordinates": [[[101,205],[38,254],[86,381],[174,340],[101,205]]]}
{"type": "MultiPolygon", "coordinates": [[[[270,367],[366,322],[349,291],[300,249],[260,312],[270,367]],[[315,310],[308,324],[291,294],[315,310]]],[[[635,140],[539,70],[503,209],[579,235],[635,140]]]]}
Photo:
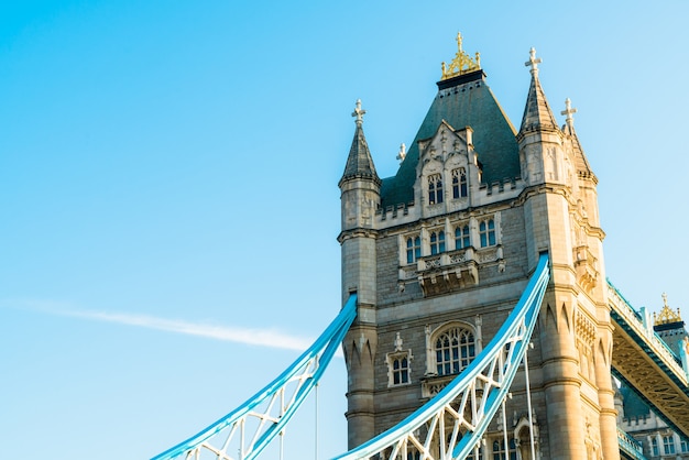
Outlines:
{"type": "Polygon", "coordinates": [[[250,460],[277,436],[316,386],[357,316],[352,294],[325,332],[287,370],[243,405],[152,460],[250,460]]]}

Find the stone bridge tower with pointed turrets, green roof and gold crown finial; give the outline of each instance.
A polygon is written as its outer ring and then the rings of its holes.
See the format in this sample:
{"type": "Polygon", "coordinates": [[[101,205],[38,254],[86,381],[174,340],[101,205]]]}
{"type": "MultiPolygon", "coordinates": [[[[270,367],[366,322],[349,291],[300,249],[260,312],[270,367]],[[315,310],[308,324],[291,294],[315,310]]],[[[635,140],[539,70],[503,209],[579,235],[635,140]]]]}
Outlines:
{"type": "MultiPolygon", "coordinates": [[[[529,352],[536,456],[617,459],[598,179],[566,102],[558,127],[532,50],[518,132],[479,54],[442,64],[438,92],[397,173],[381,180],[362,129],[341,189],[349,447],[402,420],[481,352],[548,252],[551,281],[529,352]]],[[[524,375],[507,402],[511,454],[531,458],[524,375]]],[[[493,420],[483,456],[504,452],[493,420]]]]}

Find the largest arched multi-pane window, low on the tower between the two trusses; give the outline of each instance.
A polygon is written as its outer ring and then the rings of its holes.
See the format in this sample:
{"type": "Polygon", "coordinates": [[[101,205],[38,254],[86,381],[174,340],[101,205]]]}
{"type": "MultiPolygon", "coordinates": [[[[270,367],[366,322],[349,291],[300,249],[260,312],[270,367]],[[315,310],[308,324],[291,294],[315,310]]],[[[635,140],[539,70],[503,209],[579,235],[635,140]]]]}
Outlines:
{"type": "Polygon", "coordinates": [[[438,375],[458,374],[475,357],[473,332],[452,326],[435,339],[436,372],[438,375]]]}

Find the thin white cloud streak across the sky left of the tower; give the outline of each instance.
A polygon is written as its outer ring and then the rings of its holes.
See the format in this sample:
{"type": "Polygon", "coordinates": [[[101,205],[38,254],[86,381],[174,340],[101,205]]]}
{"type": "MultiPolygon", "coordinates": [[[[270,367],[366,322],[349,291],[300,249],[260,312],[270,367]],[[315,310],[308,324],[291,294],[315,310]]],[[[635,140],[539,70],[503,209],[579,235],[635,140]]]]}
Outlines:
{"type": "MultiPolygon", "coordinates": [[[[8,302],[1,304],[8,305],[8,302]]],[[[17,302],[12,302],[17,306],[17,302]]],[[[167,332],[184,333],[188,336],[205,337],[234,343],[256,347],[269,347],[283,350],[304,351],[311,346],[313,341],[302,337],[285,335],[275,329],[236,328],[229,326],[211,325],[208,322],[194,322],[179,319],[158,318],[149,315],[134,315],[124,313],[108,313],[72,309],[65,304],[52,302],[23,300],[19,304],[30,309],[45,311],[52,315],[69,316],[74,318],[90,319],[96,321],[112,322],[127,326],[136,326],[146,329],[164,330],[167,332]]]]}

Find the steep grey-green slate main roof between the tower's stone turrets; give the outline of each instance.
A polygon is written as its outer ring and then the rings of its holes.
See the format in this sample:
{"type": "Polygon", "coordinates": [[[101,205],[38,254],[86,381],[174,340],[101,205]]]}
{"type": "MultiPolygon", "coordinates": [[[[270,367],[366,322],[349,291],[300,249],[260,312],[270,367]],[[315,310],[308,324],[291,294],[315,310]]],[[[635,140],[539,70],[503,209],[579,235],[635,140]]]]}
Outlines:
{"type": "Polygon", "coordinates": [[[383,207],[414,200],[418,141],[433,136],[442,120],[453,129],[471,127],[473,146],[483,166],[483,182],[520,177],[516,131],[492,91],[483,70],[439,81],[436,95],[397,174],[383,179],[383,207]]]}

